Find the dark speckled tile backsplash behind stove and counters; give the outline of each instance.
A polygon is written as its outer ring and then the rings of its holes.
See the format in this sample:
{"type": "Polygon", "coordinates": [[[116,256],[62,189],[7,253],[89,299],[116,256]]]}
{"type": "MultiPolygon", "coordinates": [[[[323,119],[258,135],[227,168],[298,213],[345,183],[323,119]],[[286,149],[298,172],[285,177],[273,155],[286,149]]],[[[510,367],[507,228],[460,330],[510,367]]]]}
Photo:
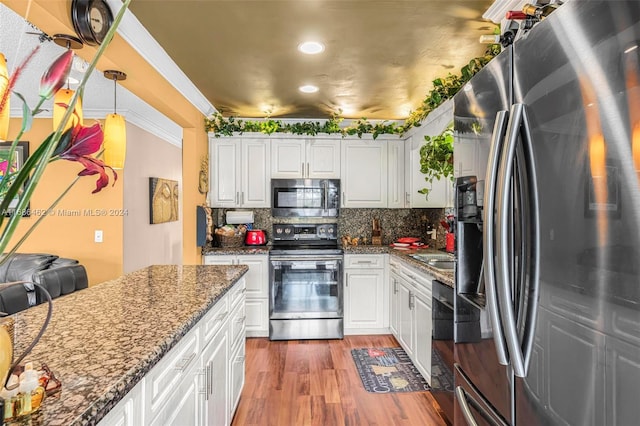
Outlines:
{"type": "MultiPolygon", "coordinates": [[[[214,212],[218,226],[224,224],[227,209],[214,209],[214,212]]],[[[274,223],[337,222],[339,236],[365,237],[370,242],[373,219],[379,219],[383,244],[390,244],[400,237],[420,237],[431,247],[445,246],[445,230],[440,225],[445,217],[444,209],[340,209],[338,218],[329,219],[272,217],[271,209],[253,209],[253,213],[253,227],[267,231],[269,239],[274,223]],[[435,244],[426,234],[427,223],[436,228],[435,244]]]]}

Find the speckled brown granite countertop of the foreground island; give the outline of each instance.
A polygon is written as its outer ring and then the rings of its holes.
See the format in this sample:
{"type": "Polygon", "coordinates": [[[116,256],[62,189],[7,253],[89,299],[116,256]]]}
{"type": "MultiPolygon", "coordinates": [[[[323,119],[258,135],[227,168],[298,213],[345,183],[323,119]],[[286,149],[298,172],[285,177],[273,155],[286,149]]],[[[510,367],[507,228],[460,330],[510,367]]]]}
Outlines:
{"type": "MultiPolygon", "coordinates": [[[[54,299],[51,323],[25,361],[45,362],[62,391],[27,424],[96,424],[247,270],[149,266],[54,299]]],[[[46,312],[42,304],[14,315],[16,354],[46,312]]]]}

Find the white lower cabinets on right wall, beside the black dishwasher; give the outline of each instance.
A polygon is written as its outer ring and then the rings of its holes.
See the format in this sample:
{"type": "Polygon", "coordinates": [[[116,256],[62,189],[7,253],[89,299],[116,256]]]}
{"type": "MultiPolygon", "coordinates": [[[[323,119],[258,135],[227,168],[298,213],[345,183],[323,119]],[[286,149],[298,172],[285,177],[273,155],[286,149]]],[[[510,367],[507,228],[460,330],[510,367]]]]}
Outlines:
{"type": "Polygon", "coordinates": [[[430,382],[433,278],[392,258],[389,279],[391,332],[420,374],[430,382]]]}

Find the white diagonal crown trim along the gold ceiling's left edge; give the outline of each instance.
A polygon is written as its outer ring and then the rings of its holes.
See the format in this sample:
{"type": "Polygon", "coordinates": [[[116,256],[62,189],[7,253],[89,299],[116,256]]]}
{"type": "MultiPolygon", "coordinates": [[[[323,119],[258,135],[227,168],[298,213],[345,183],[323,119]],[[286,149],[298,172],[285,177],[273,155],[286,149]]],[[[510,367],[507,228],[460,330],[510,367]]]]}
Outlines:
{"type": "MultiPolygon", "coordinates": [[[[113,14],[116,15],[122,7],[122,1],[107,0],[107,2],[113,14]]],[[[211,102],[173,62],[130,10],[127,10],[122,17],[118,34],[205,116],[216,112],[211,102]]]]}

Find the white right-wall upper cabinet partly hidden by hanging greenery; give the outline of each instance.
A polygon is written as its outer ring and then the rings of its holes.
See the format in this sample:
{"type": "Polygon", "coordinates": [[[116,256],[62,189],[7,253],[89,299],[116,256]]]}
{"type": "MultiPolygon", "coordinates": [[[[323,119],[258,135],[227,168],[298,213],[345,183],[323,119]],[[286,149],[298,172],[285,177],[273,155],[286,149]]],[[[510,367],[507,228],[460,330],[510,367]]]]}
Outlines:
{"type": "MultiPolygon", "coordinates": [[[[406,139],[405,149],[409,164],[407,182],[405,187],[405,207],[413,208],[441,208],[453,206],[451,193],[453,184],[449,179],[441,179],[431,184],[425,181],[425,175],[420,172],[420,148],[425,144],[425,136],[438,136],[453,121],[453,101],[448,100],[432,111],[420,127],[414,128],[410,137],[406,139]],[[429,195],[418,193],[419,190],[428,188],[429,195]]],[[[454,153],[455,158],[455,153],[454,153]]]]}

